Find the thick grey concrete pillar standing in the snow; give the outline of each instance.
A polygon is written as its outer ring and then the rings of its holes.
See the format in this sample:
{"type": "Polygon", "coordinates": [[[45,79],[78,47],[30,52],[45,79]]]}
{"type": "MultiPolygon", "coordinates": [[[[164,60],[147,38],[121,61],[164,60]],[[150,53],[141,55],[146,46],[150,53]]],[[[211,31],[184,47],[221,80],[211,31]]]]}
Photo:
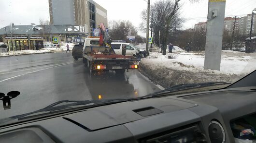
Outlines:
{"type": "Polygon", "coordinates": [[[209,0],[204,69],[220,71],[226,0],[209,0]]]}

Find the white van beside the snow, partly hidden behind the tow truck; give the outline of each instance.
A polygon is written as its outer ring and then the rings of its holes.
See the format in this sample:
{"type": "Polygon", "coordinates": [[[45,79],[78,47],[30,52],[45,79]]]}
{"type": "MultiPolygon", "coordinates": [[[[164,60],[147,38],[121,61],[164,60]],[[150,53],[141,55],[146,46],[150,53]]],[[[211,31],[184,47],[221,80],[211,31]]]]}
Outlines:
{"type": "Polygon", "coordinates": [[[136,56],[139,58],[143,58],[146,56],[145,50],[142,50],[138,47],[135,47],[134,45],[130,43],[123,43],[123,42],[112,42],[111,46],[114,48],[114,52],[117,55],[122,55],[122,46],[126,46],[126,55],[127,56],[136,56]]]}

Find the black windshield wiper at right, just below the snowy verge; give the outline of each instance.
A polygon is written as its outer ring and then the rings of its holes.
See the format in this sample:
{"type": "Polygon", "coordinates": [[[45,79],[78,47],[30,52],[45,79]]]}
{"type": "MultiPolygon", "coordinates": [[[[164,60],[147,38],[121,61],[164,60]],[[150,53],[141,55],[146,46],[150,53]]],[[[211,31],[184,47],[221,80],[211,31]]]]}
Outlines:
{"type": "Polygon", "coordinates": [[[207,83],[188,83],[188,84],[178,84],[175,86],[172,86],[170,88],[154,92],[142,97],[138,97],[139,99],[145,98],[145,97],[156,97],[158,95],[168,94],[172,92],[187,90],[187,89],[193,89],[193,88],[201,88],[201,87],[207,87],[207,86],[214,86],[214,85],[224,85],[224,84],[231,84],[226,82],[207,82],[207,83]]]}

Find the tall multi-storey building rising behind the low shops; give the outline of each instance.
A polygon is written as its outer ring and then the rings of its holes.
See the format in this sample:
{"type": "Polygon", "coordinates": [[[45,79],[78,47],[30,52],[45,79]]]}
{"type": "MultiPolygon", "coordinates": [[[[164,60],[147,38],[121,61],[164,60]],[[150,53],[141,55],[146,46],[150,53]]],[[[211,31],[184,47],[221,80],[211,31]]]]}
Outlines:
{"type": "Polygon", "coordinates": [[[85,32],[93,35],[100,23],[108,25],[107,10],[93,0],[49,0],[51,24],[85,26],[85,32]]]}

